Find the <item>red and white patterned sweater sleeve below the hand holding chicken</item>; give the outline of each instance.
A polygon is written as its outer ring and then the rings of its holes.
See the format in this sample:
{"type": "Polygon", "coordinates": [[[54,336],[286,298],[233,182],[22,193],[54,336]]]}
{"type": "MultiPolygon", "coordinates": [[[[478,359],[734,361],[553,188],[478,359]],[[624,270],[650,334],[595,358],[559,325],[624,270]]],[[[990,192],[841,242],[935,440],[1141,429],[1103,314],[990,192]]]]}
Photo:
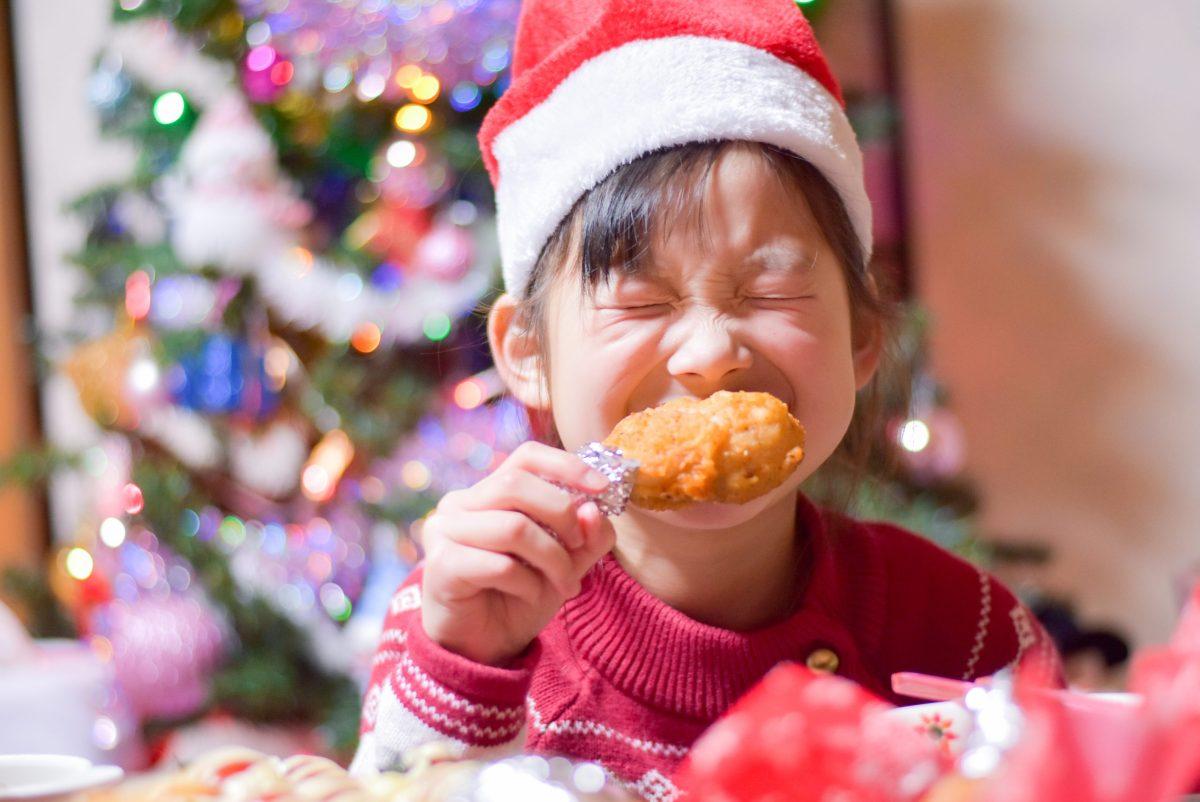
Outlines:
{"type": "Polygon", "coordinates": [[[534,641],[512,666],[497,668],[436,644],[421,626],[418,568],[396,592],[384,620],[350,771],[402,768],[407,753],[432,743],[455,758],[520,750],[539,652],[534,641]]]}

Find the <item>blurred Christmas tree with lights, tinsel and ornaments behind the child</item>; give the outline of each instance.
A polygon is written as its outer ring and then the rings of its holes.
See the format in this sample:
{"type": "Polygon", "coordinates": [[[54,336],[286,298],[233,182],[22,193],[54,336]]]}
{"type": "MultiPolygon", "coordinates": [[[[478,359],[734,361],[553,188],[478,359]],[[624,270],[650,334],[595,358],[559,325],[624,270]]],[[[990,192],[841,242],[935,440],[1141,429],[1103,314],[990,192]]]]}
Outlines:
{"type": "MultiPolygon", "coordinates": [[[[476,315],[498,265],[475,132],[517,5],[115,2],[91,102],[138,158],[72,208],[80,321],[103,327],[64,369],[103,437],[64,466],[95,509],[52,571],[113,664],[113,747],[221,711],[348,754],[422,517],[526,437],[476,315]]],[[[866,144],[871,101],[851,108],[866,144]]],[[[961,438],[918,321],[892,423],[859,435],[883,478],[809,491],[964,547],[961,438]]]]}

